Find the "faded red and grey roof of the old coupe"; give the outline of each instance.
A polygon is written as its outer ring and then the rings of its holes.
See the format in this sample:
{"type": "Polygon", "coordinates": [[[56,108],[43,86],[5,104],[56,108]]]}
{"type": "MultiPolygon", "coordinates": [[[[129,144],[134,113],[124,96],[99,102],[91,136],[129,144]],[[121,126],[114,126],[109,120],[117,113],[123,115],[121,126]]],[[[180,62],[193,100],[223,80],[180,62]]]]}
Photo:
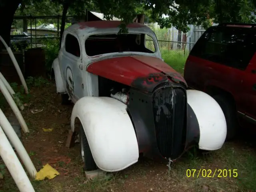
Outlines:
{"type": "MultiPolygon", "coordinates": [[[[90,33],[90,32],[102,32],[102,29],[117,29],[119,30],[119,26],[122,22],[121,21],[106,21],[106,20],[101,20],[101,21],[88,21],[88,22],[80,22],[80,23],[76,23],[73,24],[71,26],[69,26],[68,28],[66,28],[66,30],[75,32],[76,34],[84,34],[84,33],[90,33]]],[[[149,32],[152,33],[152,30],[141,23],[130,23],[126,26],[128,28],[128,30],[138,30],[139,32],[149,32]]]]}

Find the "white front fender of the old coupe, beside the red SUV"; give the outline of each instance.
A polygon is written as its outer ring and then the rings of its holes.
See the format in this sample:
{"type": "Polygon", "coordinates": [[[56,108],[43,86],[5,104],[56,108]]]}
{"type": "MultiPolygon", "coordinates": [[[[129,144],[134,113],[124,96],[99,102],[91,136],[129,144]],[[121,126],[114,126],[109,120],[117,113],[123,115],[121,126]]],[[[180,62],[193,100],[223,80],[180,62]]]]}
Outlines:
{"type": "Polygon", "coordinates": [[[226,140],[227,127],[219,104],[210,95],[198,90],[187,90],[187,97],[200,129],[199,148],[220,149],[226,140]]]}

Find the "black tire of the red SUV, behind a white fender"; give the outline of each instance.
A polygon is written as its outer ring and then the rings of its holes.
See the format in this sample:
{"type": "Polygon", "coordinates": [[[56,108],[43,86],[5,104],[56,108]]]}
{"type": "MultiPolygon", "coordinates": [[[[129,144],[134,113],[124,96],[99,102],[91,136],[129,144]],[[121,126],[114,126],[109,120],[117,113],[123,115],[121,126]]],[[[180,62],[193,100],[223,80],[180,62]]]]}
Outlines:
{"type": "Polygon", "coordinates": [[[236,116],[236,107],[234,105],[234,102],[224,96],[224,95],[214,95],[212,96],[216,102],[220,105],[227,123],[227,136],[226,140],[232,140],[236,137],[236,134],[238,132],[238,120],[236,116]]]}

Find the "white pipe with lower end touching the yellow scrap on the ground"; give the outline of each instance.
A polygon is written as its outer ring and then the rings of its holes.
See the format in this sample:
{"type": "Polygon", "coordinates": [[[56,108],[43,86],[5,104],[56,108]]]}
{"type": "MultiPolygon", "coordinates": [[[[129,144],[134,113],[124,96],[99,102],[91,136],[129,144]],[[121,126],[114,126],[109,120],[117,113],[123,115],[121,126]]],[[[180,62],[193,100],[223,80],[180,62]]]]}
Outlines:
{"type": "Polygon", "coordinates": [[[26,152],[26,149],[24,148],[22,142],[18,138],[16,132],[12,128],[12,125],[7,120],[6,116],[0,109],[0,126],[4,130],[6,136],[8,136],[9,140],[12,142],[14,148],[16,149],[20,159],[22,160],[24,166],[26,167],[26,170],[28,171],[28,174],[31,178],[36,177],[36,168],[34,164],[32,163],[30,157],[28,156],[28,153],[26,152]]]}

